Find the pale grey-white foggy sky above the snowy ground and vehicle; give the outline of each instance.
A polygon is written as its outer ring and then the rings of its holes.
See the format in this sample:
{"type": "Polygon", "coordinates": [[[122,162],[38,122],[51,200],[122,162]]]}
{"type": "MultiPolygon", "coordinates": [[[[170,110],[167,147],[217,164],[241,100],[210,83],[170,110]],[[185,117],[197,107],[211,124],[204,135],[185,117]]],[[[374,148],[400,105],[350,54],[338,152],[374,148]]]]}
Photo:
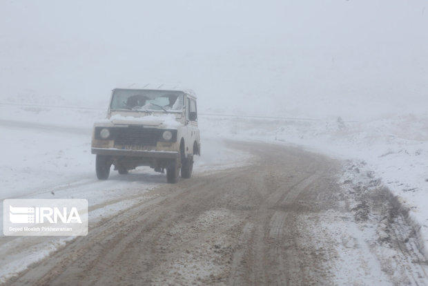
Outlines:
{"type": "Polygon", "coordinates": [[[0,101],[106,106],[116,86],[156,82],[193,88],[202,111],[426,113],[427,6],[4,0],[0,101]]]}

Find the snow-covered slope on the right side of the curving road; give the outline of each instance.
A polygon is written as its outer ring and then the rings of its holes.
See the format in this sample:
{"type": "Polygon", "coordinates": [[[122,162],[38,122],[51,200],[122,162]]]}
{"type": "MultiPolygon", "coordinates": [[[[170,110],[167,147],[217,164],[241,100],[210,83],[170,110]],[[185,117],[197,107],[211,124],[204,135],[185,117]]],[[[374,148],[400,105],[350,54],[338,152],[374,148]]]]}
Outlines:
{"type": "MultiPolygon", "coordinates": [[[[409,222],[416,229],[420,227],[420,247],[427,256],[427,116],[400,115],[361,122],[346,122],[340,117],[326,120],[203,117],[200,125],[219,136],[228,134],[237,140],[304,146],[309,151],[353,161],[362,177],[369,174],[373,180],[380,180],[409,209],[409,222]]],[[[348,174],[353,175],[351,171],[348,174]]],[[[343,181],[346,180],[345,176],[343,181]]]]}

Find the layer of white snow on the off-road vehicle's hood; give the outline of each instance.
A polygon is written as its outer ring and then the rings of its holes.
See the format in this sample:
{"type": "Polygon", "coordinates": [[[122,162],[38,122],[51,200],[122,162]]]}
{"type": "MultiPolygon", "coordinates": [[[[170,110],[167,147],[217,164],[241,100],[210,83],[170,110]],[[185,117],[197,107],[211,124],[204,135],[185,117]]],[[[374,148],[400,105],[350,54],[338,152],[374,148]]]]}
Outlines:
{"type": "Polygon", "coordinates": [[[177,128],[181,125],[177,122],[175,115],[148,115],[144,117],[124,116],[115,114],[110,117],[110,122],[113,124],[144,124],[149,126],[160,126],[164,128],[177,128]]]}

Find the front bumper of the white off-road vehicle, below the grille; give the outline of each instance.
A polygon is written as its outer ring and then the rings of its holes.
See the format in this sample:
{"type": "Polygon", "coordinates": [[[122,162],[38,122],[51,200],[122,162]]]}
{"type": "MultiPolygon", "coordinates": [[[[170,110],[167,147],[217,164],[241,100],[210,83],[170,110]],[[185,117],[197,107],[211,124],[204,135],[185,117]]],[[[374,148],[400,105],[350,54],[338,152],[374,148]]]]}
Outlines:
{"type": "Polygon", "coordinates": [[[155,159],[177,159],[179,154],[176,151],[143,151],[143,150],[124,150],[114,148],[92,148],[91,153],[108,156],[141,157],[155,159]]]}

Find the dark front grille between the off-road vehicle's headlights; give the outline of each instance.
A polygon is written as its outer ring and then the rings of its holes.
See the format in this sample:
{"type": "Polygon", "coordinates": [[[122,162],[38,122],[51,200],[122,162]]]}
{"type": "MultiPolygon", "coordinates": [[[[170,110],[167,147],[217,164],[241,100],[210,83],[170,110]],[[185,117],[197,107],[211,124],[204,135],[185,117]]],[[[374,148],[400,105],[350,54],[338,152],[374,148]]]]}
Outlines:
{"type": "Polygon", "coordinates": [[[157,129],[143,128],[141,126],[129,126],[117,128],[115,136],[115,147],[117,146],[156,146],[157,129]]]}

